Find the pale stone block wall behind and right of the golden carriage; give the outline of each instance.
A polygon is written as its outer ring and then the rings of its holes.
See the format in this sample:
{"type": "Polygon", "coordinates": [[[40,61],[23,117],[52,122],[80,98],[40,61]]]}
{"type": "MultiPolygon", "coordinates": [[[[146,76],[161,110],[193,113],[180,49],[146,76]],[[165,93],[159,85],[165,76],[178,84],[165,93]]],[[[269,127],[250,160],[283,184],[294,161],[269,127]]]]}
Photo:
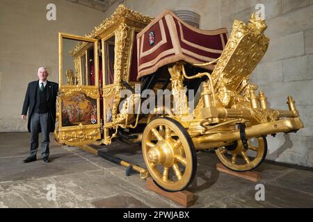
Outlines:
{"type": "MultiPolygon", "coordinates": [[[[126,0],[125,6],[157,16],[170,10],[191,10],[200,17],[200,28],[227,27],[234,19],[248,22],[255,5],[263,3],[271,42],[251,76],[268,97],[271,108],[287,110],[294,96],[305,128],[294,134],[268,139],[268,160],[313,167],[313,1],[312,0],[126,0]]],[[[105,12],[109,17],[118,3],[105,12]]]]}

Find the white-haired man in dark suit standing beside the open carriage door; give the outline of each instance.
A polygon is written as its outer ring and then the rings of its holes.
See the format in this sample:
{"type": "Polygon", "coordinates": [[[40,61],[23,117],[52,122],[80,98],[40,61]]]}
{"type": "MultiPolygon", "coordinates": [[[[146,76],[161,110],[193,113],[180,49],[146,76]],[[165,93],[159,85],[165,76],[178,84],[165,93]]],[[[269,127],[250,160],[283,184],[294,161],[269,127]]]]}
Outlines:
{"type": "Polygon", "coordinates": [[[49,133],[54,132],[56,123],[56,96],[58,83],[47,80],[49,73],[45,67],[38,69],[39,80],[29,83],[24,100],[22,119],[26,119],[29,110],[27,128],[31,133],[31,152],[24,162],[37,160],[38,135],[42,133],[41,155],[42,160],[49,161],[49,133]]]}

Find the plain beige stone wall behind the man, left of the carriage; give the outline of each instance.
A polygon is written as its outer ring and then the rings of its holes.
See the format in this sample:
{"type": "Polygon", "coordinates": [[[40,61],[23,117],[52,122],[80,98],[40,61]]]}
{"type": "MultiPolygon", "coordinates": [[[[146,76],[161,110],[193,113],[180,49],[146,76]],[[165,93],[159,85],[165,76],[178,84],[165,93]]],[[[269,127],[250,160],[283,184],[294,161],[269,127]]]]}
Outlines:
{"type": "Polygon", "coordinates": [[[58,82],[58,32],[84,35],[104,19],[104,12],[64,0],[0,1],[0,132],[26,131],[22,103],[38,67],[48,67],[58,82]],[[56,21],[48,21],[48,3],[56,21]]]}

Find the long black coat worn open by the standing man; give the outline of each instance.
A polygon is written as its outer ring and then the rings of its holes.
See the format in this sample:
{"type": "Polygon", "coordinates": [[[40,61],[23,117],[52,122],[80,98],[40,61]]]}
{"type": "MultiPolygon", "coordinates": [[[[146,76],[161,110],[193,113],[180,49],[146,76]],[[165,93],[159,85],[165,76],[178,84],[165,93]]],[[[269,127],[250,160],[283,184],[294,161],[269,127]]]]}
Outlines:
{"type": "MultiPolygon", "coordinates": [[[[27,128],[31,132],[31,115],[35,110],[35,100],[37,94],[37,86],[39,85],[39,80],[29,83],[27,87],[22,114],[26,115],[27,110],[29,110],[29,119],[27,123],[27,128]]],[[[56,96],[58,95],[58,83],[50,82],[47,80],[47,106],[49,113],[49,130],[51,133],[54,132],[54,126],[56,124],[56,96]]]]}

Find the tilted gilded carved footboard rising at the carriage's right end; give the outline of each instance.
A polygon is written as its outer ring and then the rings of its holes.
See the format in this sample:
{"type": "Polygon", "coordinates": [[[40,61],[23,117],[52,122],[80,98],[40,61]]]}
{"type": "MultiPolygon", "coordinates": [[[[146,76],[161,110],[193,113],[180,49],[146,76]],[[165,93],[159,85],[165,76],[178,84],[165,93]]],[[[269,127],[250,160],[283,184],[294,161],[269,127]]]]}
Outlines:
{"type": "Polygon", "coordinates": [[[232,33],[211,76],[214,87],[223,85],[224,78],[232,81],[228,89],[236,94],[264,56],[269,39],[264,35],[266,24],[252,14],[248,25],[234,20],[232,33]]]}

